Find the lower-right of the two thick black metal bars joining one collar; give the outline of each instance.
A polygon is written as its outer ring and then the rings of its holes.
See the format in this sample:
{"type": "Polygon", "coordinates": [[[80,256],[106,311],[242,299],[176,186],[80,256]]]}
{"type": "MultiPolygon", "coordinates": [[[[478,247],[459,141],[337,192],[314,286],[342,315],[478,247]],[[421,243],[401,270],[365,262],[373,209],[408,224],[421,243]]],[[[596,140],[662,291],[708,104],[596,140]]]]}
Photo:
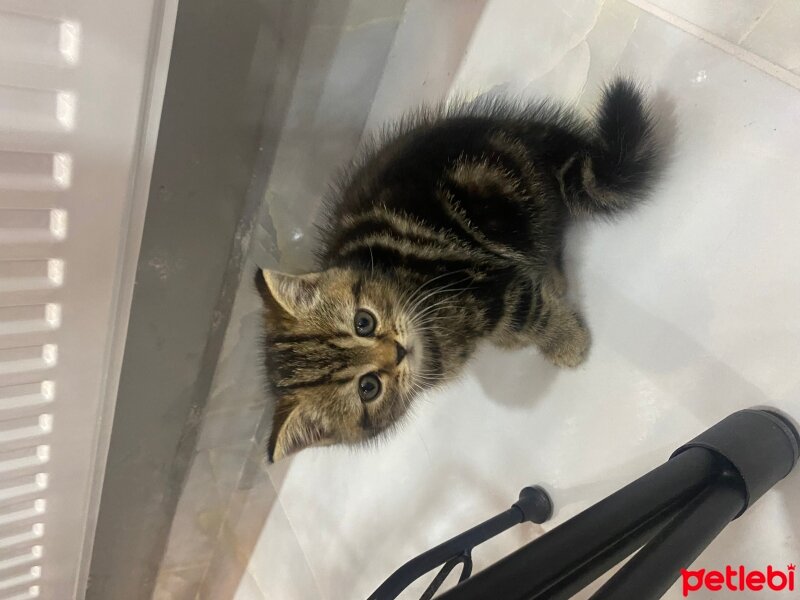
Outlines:
{"type": "Polygon", "coordinates": [[[678,513],[591,600],[661,598],[694,559],[747,503],[738,473],[726,469],[692,504],[678,513]]]}

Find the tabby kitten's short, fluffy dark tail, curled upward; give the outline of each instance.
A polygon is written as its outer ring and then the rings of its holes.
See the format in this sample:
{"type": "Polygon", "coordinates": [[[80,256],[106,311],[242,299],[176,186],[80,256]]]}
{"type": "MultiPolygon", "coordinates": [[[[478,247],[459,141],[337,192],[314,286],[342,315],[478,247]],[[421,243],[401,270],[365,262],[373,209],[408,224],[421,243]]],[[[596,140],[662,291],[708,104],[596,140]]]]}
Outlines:
{"type": "Polygon", "coordinates": [[[661,152],[636,84],[617,79],[605,88],[587,141],[561,170],[570,212],[613,215],[641,200],[655,183],[661,152]]]}

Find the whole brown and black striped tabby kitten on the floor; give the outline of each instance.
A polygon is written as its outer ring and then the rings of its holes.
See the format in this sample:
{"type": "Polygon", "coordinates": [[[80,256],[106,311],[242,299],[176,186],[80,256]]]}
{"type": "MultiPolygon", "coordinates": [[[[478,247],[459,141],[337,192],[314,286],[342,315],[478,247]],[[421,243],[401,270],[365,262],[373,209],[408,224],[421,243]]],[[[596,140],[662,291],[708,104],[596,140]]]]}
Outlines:
{"type": "Polygon", "coordinates": [[[564,296],[565,226],[636,204],[657,159],[650,111],[622,79],[594,122],[501,100],[402,121],[330,201],[321,270],[256,273],[269,460],[372,440],[481,340],[581,364],[589,332],[564,296]]]}

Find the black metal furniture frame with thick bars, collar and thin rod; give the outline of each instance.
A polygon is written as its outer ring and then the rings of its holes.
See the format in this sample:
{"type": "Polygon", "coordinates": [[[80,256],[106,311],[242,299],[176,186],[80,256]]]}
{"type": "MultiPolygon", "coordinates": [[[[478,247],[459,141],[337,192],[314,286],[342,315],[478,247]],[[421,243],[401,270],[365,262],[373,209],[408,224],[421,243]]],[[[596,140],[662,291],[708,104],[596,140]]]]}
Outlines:
{"type": "MultiPolygon", "coordinates": [[[[665,464],[476,576],[468,579],[471,569],[465,565],[459,584],[441,600],[569,598],[636,550],[592,599],[660,598],[730,521],[789,474],[798,456],[800,436],[785,416],[762,409],[736,412],[681,446],[665,464]]],[[[538,488],[537,494],[543,493],[538,488]]],[[[459,544],[468,559],[477,543],[526,520],[517,514],[511,522],[511,510],[406,563],[370,600],[395,598],[435,566],[448,568],[458,554],[445,550],[459,544]],[[506,520],[498,521],[504,515],[506,520]],[[486,527],[493,522],[502,525],[495,533],[486,527]]],[[[424,600],[445,577],[434,579],[424,600]]]]}

